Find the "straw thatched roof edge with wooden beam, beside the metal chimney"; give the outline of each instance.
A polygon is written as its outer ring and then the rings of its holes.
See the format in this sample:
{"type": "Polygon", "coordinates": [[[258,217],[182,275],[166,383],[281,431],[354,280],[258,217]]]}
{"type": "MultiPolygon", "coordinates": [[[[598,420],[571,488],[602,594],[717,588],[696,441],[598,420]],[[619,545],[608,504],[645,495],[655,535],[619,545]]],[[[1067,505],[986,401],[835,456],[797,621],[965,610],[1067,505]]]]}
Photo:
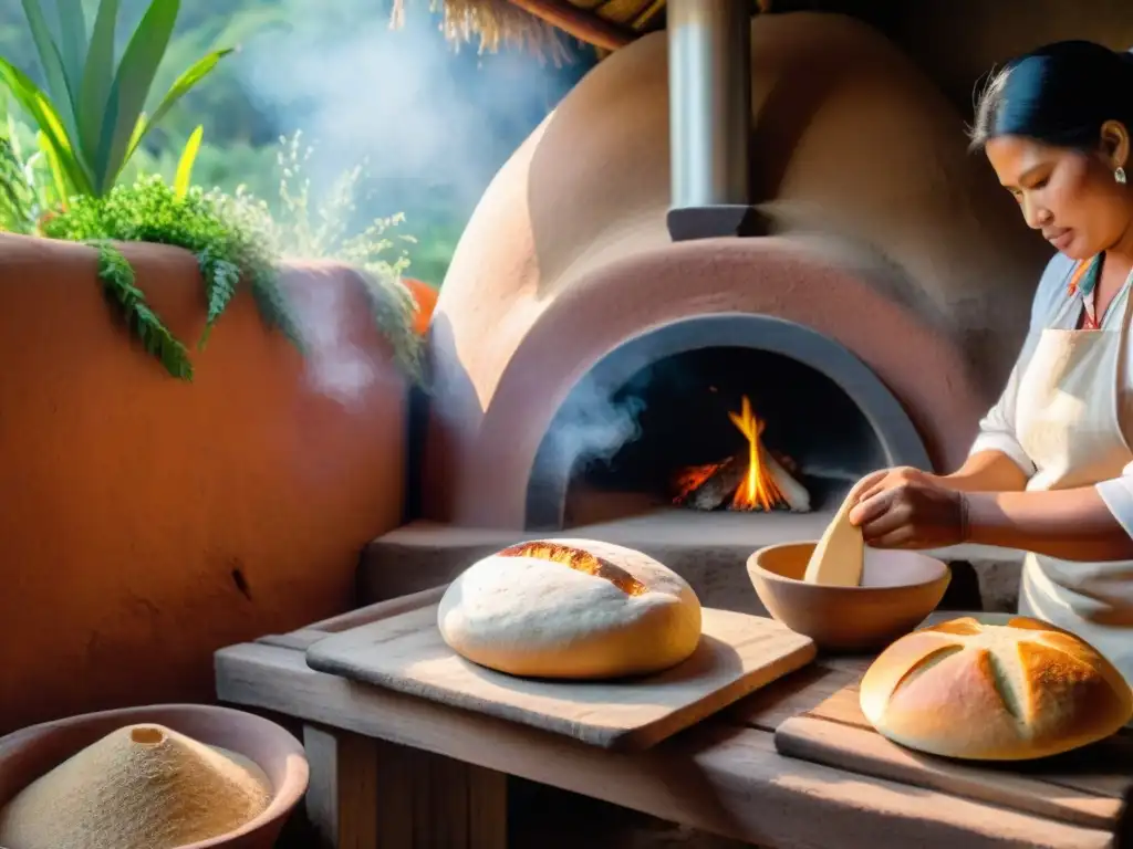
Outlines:
{"type": "MultiPolygon", "coordinates": [[[[400,24],[409,0],[393,0],[393,24],[400,24]]],[[[561,61],[570,38],[617,50],[645,33],[665,26],[665,0],[429,0],[443,9],[442,28],[454,42],[477,40],[480,50],[503,44],[534,50],[561,61]]],[[[766,11],[770,0],[752,0],[766,11]]]]}

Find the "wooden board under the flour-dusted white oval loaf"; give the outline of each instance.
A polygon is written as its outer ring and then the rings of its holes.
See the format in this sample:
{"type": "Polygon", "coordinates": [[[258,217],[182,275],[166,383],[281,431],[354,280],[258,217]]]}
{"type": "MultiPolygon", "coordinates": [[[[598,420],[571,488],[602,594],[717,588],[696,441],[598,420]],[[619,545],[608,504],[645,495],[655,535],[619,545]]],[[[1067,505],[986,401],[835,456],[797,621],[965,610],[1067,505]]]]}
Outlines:
{"type": "Polygon", "coordinates": [[[466,661],[441,638],[436,603],[344,631],[307,650],[307,666],[611,749],[642,749],[806,666],[815,644],[757,616],[705,608],[684,663],[619,681],[514,678],[466,661]]]}

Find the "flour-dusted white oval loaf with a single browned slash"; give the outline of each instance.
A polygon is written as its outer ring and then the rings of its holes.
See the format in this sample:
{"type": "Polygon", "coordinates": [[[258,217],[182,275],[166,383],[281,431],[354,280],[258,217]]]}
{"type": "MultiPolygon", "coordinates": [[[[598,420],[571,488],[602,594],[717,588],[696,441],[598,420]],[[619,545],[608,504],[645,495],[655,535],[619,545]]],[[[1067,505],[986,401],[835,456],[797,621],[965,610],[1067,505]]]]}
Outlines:
{"type": "Polygon", "coordinates": [[[485,557],[445,591],[444,642],[489,669],[534,678],[644,675],[700,642],[700,601],[651,557],[594,540],[521,542],[485,557]]]}

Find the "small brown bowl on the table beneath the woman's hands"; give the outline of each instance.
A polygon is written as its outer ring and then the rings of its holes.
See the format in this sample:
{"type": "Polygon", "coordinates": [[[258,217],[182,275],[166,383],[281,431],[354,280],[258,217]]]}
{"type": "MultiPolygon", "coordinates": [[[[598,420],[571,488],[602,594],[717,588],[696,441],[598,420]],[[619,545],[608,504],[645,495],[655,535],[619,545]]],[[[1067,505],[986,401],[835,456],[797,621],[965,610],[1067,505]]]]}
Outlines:
{"type": "Polygon", "coordinates": [[[861,586],[802,580],[815,542],[784,542],[748,558],[748,575],[767,611],[830,652],[881,649],[920,625],[948,589],[952,572],[917,551],[866,549],[861,586]]]}

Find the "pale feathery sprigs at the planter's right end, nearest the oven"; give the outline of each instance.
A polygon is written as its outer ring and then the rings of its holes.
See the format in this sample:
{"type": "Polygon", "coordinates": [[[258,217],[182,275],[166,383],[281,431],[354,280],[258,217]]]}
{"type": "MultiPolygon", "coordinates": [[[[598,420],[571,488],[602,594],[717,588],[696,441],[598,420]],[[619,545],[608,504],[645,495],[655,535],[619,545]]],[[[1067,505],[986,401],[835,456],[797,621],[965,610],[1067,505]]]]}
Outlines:
{"type": "Polygon", "coordinates": [[[412,294],[401,282],[409,267],[407,245],[416,239],[391,234],[403,215],[372,221],[360,232],[353,226],[358,185],[365,163],[344,171],[325,196],[313,196],[306,175],[313,147],[303,146],[303,134],[280,139],[279,200],[275,209],[238,188],[232,195],[213,192],[212,197],[229,217],[258,233],[269,250],[287,259],[335,259],[359,269],[366,283],[370,314],[390,341],[394,359],[415,380],[421,379],[421,340],[414,332],[417,309],[412,294]]]}

